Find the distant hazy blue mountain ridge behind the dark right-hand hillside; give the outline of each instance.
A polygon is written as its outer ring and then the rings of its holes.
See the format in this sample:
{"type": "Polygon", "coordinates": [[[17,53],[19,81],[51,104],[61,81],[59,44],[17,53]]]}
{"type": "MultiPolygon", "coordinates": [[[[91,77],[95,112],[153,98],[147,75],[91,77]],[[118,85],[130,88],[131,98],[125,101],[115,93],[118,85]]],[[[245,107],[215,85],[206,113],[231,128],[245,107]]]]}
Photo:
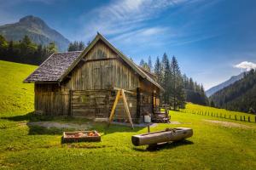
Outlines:
{"type": "Polygon", "coordinates": [[[219,90],[221,90],[225,87],[230,86],[230,84],[233,84],[234,82],[236,82],[238,80],[241,80],[241,78],[243,76],[244,76],[244,72],[242,72],[241,74],[239,74],[237,76],[230,77],[229,80],[222,82],[222,83],[218,84],[217,86],[214,86],[214,87],[208,89],[206,91],[207,97],[211,96],[212,94],[215,94],[216,92],[218,92],[219,90]]]}

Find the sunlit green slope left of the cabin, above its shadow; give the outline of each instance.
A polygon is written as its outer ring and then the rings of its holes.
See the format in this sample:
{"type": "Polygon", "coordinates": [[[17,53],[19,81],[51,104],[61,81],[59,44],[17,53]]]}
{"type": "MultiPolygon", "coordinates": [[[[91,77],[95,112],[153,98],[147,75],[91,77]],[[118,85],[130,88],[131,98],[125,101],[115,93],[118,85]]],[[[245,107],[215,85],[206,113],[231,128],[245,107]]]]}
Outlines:
{"type": "Polygon", "coordinates": [[[1,114],[24,114],[24,111],[33,110],[33,84],[22,81],[36,68],[0,60],[1,114]]]}

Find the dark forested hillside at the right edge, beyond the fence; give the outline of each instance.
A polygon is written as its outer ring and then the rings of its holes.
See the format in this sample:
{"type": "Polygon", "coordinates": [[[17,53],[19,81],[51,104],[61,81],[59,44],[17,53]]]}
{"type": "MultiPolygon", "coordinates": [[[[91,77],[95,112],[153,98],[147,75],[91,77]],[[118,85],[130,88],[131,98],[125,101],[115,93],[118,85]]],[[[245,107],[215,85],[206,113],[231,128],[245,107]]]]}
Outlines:
{"type": "Polygon", "coordinates": [[[210,97],[217,107],[231,111],[256,112],[256,71],[210,97]]]}

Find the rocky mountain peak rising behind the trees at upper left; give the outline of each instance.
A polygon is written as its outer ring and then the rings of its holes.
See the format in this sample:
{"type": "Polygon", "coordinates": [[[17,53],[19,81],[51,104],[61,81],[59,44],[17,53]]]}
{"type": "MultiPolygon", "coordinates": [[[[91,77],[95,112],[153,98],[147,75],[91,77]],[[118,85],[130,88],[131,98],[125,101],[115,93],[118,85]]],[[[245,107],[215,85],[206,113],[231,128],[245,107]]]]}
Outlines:
{"type": "Polygon", "coordinates": [[[38,44],[55,42],[60,51],[66,51],[69,44],[69,40],[61,33],[47,26],[44,20],[32,15],[21,18],[14,24],[0,26],[0,34],[9,41],[19,41],[27,35],[32,42],[38,44]]]}

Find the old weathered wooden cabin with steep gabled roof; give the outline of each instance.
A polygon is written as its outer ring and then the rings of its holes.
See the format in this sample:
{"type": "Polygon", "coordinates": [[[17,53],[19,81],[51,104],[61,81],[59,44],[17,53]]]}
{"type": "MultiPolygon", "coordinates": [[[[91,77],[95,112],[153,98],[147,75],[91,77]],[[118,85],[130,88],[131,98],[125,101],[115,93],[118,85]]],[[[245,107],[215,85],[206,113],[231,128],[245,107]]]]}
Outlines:
{"type": "MultiPolygon", "coordinates": [[[[159,108],[160,85],[100,33],[84,51],[49,56],[24,82],[34,82],[35,111],[49,116],[108,118],[116,89],[125,89],[132,122],[159,108]]],[[[122,100],[113,119],[124,120],[122,100]]]]}

